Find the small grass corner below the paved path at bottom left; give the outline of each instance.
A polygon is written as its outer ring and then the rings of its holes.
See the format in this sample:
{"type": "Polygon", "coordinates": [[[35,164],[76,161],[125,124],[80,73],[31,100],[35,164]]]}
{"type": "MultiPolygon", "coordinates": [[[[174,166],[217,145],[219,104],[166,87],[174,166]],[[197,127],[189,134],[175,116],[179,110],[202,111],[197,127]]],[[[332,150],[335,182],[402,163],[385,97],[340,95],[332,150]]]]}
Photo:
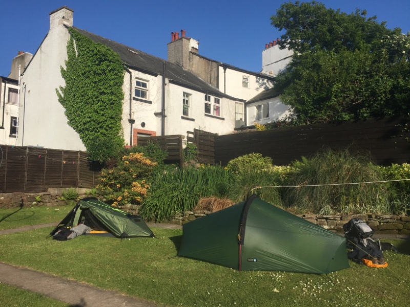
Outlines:
{"type": "Polygon", "coordinates": [[[0,306],[2,307],[70,307],[70,304],[0,283],[0,306]]]}

